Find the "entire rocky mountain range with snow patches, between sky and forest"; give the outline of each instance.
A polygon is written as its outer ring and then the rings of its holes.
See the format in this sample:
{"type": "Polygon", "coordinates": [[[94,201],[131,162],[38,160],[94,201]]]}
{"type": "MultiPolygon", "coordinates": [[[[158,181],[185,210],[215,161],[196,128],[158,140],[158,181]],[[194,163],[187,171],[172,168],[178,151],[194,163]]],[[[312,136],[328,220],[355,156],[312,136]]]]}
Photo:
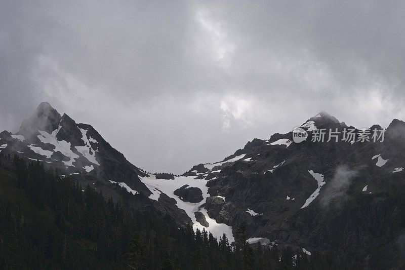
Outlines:
{"type": "Polygon", "coordinates": [[[0,151],[40,162],[59,179],[89,185],[114,201],[130,195],[138,211],[169,215],[178,226],[205,228],[217,239],[226,234],[233,242],[238,225],[246,224],[252,245],[332,253],[365,268],[402,267],[405,123],[358,129],[320,112],[297,127],[308,136],[299,143],[294,131],[276,133],[183,175],[152,174],[91,125],[44,102],[17,133],[0,133],[0,151]],[[345,138],[348,130],[357,138],[345,138]],[[321,131],[325,140],[313,139],[321,131]]]}

